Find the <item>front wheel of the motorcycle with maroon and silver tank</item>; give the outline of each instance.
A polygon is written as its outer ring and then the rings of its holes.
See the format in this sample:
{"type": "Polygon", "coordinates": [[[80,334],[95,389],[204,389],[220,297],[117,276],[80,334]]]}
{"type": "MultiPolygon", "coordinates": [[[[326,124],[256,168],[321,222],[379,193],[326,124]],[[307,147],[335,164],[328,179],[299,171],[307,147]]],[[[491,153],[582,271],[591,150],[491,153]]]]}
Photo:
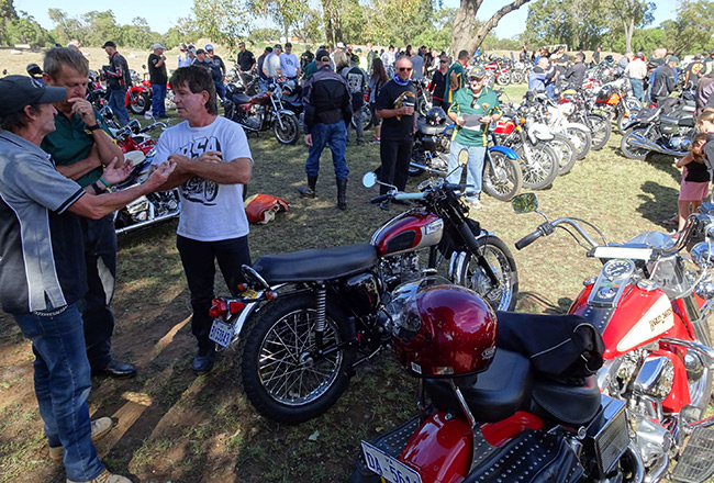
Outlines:
{"type": "Polygon", "coordinates": [[[476,243],[478,252],[486,258],[491,270],[501,281],[500,287],[492,287],[486,271],[479,266],[477,257],[468,251],[451,254],[451,257],[462,257],[457,258],[459,261],[454,273],[454,282],[477,292],[494,311],[515,310],[518,271],[511,250],[503,240],[493,235],[477,238],[476,243]]]}

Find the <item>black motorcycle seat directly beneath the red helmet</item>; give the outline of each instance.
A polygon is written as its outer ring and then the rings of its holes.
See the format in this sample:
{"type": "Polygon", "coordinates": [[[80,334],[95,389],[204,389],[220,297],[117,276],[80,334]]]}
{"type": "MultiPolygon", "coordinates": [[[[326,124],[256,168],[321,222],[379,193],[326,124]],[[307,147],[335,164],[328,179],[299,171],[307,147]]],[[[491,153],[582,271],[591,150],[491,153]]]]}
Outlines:
{"type": "MultiPolygon", "coordinates": [[[[471,413],[481,423],[494,423],[527,408],[531,400],[533,369],[525,356],[497,349],[491,366],[476,377],[459,378],[461,390],[471,413]]],[[[460,405],[448,381],[426,379],[426,392],[437,409],[460,414],[460,405]]]]}

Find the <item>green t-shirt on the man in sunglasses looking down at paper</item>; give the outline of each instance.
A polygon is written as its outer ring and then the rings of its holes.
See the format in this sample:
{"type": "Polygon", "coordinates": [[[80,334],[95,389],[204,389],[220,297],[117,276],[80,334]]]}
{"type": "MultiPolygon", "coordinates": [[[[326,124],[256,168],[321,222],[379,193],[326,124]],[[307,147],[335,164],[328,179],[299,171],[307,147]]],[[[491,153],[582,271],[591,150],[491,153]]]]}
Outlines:
{"type": "Polygon", "coordinates": [[[466,87],[457,90],[454,94],[449,112],[455,112],[467,121],[464,126],[459,126],[455,131],[453,141],[465,146],[486,146],[488,144],[486,137],[488,124],[478,122],[478,117],[500,113],[501,108],[499,106],[499,97],[492,89],[483,87],[473,102],[473,92],[466,87]]]}

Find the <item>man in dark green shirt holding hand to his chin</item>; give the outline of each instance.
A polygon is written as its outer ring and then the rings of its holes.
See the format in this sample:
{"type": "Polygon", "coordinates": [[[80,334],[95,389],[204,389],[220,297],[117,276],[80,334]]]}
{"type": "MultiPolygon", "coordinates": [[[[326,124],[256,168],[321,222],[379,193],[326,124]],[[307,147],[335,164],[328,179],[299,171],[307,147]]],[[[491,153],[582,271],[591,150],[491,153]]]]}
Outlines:
{"type": "MultiPolygon", "coordinates": [[[[55,160],[57,171],[81,187],[107,186],[104,166],[114,158],[118,167],[124,155],[109,135],[109,127],[85,99],[89,63],[70,48],[53,48],[44,60],[47,86],[67,89],[67,99],[55,104],[55,132],[45,136],[42,148],[55,160]]],[[[78,304],[85,329],[87,358],[94,375],[132,378],[136,369],[110,355],[114,314],[110,308],[116,277],[114,215],[100,220],[81,218],[89,290],[78,304]]]]}

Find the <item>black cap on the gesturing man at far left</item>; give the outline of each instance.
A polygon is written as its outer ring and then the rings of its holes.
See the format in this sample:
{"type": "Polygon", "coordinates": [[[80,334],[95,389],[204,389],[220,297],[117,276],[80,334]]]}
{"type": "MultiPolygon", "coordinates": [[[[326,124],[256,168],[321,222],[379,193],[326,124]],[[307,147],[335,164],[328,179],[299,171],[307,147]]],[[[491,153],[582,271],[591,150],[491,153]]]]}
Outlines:
{"type": "Polygon", "coordinates": [[[0,79],[0,116],[22,111],[25,105],[53,104],[67,98],[64,87],[43,86],[31,77],[7,76],[0,79]]]}

